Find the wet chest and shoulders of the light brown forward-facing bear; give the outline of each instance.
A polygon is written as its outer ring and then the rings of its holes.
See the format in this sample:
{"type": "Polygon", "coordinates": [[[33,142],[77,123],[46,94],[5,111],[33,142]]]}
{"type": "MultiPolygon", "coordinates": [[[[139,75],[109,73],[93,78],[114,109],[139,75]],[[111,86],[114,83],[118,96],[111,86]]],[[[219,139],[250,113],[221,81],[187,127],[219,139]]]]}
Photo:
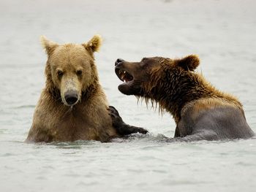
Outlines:
{"type": "Polygon", "coordinates": [[[56,96],[47,89],[42,91],[27,141],[72,142],[80,139],[108,142],[118,137],[108,115],[108,104],[102,100],[104,93],[101,89],[90,88],[74,107],[65,106],[56,96]]]}

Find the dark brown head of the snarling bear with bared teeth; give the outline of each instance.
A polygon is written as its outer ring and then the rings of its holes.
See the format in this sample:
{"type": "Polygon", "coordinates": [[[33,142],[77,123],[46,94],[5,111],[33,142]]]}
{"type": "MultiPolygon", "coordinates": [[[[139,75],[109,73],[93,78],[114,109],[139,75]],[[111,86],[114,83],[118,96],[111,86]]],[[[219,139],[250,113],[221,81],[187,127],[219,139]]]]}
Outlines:
{"type": "Polygon", "coordinates": [[[154,99],[152,91],[166,91],[177,87],[184,74],[193,73],[200,64],[197,55],[188,55],[181,59],[162,57],[143,58],[139,62],[129,62],[118,58],[115,72],[123,81],[118,90],[126,95],[144,96],[154,99]],[[160,90],[161,89],[161,90],[160,90]]]}

